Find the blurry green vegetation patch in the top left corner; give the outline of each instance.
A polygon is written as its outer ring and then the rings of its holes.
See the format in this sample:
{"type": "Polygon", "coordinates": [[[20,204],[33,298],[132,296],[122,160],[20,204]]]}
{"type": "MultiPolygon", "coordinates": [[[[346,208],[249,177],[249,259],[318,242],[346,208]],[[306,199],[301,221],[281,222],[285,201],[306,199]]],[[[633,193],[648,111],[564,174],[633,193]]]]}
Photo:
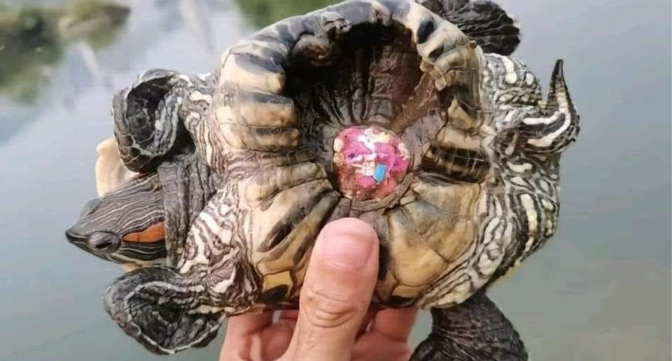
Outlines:
{"type": "Polygon", "coordinates": [[[79,0],[66,6],[0,5],[0,93],[31,103],[64,47],[83,40],[109,45],[130,13],[126,6],[79,0]]]}

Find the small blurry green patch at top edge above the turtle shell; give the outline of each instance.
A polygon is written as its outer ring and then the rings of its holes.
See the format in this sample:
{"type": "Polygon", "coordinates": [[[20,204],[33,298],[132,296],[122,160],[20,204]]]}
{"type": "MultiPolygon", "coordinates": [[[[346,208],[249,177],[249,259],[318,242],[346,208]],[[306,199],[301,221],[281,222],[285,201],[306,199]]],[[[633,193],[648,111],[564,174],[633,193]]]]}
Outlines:
{"type": "Polygon", "coordinates": [[[285,17],[308,13],[340,0],[236,0],[241,12],[256,27],[265,27],[285,17]]]}

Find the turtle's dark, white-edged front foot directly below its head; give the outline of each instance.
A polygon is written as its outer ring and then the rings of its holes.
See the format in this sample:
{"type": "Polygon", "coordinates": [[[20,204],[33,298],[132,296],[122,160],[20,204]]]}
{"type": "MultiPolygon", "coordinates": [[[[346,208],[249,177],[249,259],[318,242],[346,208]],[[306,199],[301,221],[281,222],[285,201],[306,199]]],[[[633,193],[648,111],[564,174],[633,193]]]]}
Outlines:
{"type": "Polygon", "coordinates": [[[124,274],[107,289],[108,314],[153,353],[206,346],[223,321],[221,310],[203,302],[205,287],[168,267],[124,274]]]}

